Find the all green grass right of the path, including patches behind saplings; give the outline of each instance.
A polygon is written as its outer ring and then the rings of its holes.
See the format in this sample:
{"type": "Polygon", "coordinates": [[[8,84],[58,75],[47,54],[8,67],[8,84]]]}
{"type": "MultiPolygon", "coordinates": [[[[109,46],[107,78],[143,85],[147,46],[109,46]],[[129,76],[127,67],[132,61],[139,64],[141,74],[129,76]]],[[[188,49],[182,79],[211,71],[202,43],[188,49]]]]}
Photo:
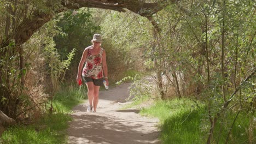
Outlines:
{"type": "MultiPolygon", "coordinates": [[[[162,143],[206,143],[210,127],[208,113],[206,106],[197,103],[199,106],[189,99],[158,100],[151,107],[142,109],[140,113],[160,119],[162,143]]],[[[217,143],[219,136],[219,143],[225,143],[235,116],[235,112],[229,112],[225,113],[225,121],[222,121],[222,118],[218,119],[214,129],[213,143],[217,143]]],[[[249,143],[249,122],[250,119],[253,121],[254,117],[241,112],[232,128],[228,143],[249,143]]],[[[252,134],[256,133],[255,129],[252,131],[252,134]]],[[[255,142],[255,140],[251,141],[255,142]]]]}

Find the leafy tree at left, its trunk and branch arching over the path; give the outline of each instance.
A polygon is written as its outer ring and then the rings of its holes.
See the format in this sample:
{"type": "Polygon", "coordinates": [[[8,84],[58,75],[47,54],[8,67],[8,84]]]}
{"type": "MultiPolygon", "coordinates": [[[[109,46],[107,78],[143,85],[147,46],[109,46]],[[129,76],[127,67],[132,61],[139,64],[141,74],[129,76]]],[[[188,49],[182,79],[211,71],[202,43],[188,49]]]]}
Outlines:
{"type": "Polygon", "coordinates": [[[13,90],[10,90],[9,86],[13,86],[17,91],[21,92],[25,85],[26,62],[22,44],[28,41],[46,22],[53,19],[55,14],[69,9],[83,7],[110,9],[120,12],[125,12],[125,9],[127,9],[150,20],[153,14],[165,7],[164,2],[160,0],[153,3],[151,1],[140,0],[0,1],[0,31],[3,32],[0,34],[0,58],[1,60],[3,59],[1,62],[4,62],[0,63],[0,77],[3,83],[0,85],[1,93],[3,94],[0,95],[0,100],[8,99],[10,102],[0,105],[0,110],[10,117],[16,117],[17,107],[20,103],[19,95],[21,93],[16,94],[13,90]],[[10,65],[15,65],[15,70],[11,70],[10,65]],[[9,77],[10,72],[16,71],[17,69],[19,69],[19,75],[12,75],[17,81],[11,80],[9,77]],[[11,82],[19,86],[11,85],[11,82]],[[7,105],[12,107],[8,107],[7,105]]]}

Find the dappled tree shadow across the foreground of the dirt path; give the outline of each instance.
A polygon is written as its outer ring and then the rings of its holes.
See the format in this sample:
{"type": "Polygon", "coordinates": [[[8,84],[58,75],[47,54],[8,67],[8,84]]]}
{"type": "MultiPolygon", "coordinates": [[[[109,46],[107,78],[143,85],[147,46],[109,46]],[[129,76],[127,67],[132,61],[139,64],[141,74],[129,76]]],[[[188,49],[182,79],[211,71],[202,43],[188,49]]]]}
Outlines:
{"type": "Polygon", "coordinates": [[[143,125],[147,124],[144,122],[134,124],[116,117],[94,113],[86,115],[77,113],[72,117],[74,124],[70,125],[72,129],[69,130],[69,143],[151,143],[158,137],[158,131],[142,133],[143,125]]]}

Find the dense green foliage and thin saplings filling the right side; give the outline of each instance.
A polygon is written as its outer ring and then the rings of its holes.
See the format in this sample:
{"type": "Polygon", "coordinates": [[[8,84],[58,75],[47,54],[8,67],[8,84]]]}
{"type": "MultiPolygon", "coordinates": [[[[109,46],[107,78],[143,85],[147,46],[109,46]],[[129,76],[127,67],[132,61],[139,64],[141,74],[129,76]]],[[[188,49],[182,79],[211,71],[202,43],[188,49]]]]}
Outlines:
{"type": "Polygon", "coordinates": [[[154,71],[159,97],[192,96],[207,105],[201,129],[207,143],[236,141],[244,135],[236,123],[252,143],[255,22],[252,1],[186,1],[167,5],[151,21],[112,12],[101,25],[126,62],[154,71]]]}

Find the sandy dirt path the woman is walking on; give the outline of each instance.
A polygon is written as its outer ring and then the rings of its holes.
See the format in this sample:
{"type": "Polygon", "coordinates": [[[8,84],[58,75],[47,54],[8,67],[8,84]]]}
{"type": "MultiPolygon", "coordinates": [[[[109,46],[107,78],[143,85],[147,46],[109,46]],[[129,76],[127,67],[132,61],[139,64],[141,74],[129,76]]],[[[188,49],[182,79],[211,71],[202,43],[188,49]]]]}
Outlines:
{"type": "Polygon", "coordinates": [[[69,143],[160,143],[159,120],[142,117],[137,109],[120,110],[129,97],[129,83],[100,91],[97,113],[88,113],[87,101],[74,107],[68,128],[69,143]]]}

